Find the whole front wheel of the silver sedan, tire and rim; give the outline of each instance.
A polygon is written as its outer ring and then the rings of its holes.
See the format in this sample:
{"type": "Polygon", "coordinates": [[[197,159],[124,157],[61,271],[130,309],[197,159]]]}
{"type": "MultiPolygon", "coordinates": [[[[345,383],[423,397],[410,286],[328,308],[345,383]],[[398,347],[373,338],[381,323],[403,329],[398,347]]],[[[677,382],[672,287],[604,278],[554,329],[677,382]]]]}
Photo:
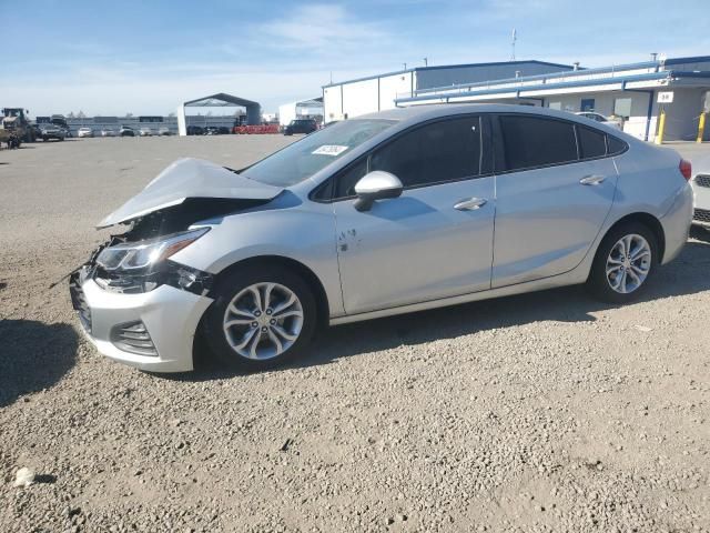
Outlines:
{"type": "Polygon", "coordinates": [[[237,268],[220,281],[204,330],[215,355],[230,366],[264,370],[293,359],[317,323],[308,284],[277,265],[237,268]]]}

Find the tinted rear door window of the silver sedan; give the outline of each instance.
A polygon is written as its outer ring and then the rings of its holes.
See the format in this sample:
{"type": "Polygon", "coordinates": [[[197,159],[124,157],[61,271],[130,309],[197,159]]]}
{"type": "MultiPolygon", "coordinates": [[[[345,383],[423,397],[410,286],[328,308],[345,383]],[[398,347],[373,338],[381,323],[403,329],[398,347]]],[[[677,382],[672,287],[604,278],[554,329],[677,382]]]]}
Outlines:
{"type": "Polygon", "coordinates": [[[507,170],[530,169],[577,160],[571,122],[529,115],[501,115],[507,170]]]}

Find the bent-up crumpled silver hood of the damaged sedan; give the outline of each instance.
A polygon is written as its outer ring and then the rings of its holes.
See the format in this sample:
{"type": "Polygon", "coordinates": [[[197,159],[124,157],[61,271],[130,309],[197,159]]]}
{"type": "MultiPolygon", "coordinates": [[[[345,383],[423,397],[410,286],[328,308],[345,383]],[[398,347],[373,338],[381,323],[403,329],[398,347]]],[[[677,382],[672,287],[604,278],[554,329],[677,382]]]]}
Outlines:
{"type": "Polygon", "coordinates": [[[189,198],[271,200],[283,188],[250,180],[202,159],[179,159],[145,189],[103,219],[97,228],[130,222],[153,211],[178,205],[189,198]]]}

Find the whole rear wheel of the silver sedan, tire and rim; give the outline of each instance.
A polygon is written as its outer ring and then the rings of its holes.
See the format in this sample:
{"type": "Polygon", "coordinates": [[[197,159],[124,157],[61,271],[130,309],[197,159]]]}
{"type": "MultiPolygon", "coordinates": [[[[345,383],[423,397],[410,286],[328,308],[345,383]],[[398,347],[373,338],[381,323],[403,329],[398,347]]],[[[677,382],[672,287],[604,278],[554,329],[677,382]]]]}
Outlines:
{"type": "Polygon", "coordinates": [[[628,223],[604,238],[587,286],[600,300],[627,303],[648,284],[658,264],[656,235],[641,223],[628,223]]]}

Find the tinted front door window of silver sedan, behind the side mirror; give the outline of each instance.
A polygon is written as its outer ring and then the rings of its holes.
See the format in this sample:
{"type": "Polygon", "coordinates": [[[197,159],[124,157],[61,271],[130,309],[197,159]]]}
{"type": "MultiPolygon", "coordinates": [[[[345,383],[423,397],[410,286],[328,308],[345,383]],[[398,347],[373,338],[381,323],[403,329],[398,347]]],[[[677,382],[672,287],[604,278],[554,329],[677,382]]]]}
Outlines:
{"type": "Polygon", "coordinates": [[[405,187],[479,175],[480,139],[478,117],[434,122],[377,150],[369,170],[392,172],[405,187]]]}

